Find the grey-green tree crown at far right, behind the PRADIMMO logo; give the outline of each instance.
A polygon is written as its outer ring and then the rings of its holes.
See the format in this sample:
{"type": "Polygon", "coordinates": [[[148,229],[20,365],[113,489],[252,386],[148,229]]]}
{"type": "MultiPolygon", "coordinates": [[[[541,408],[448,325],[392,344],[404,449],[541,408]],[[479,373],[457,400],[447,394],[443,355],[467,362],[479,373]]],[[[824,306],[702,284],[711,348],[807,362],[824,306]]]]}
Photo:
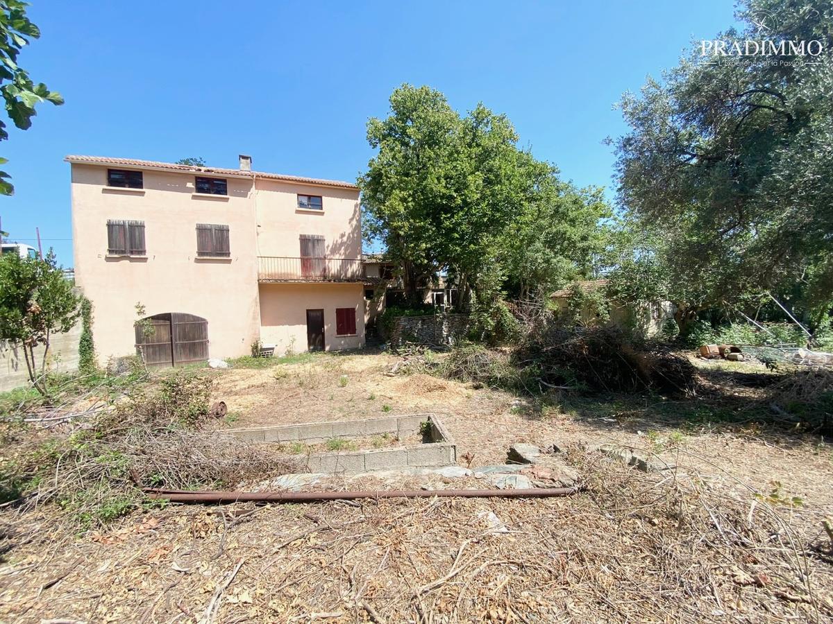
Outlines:
{"type": "Polygon", "coordinates": [[[683,331],[699,310],[796,280],[812,280],[822,309],[831,301],[833,6],[748,0],[737,16],[746,27],[718,39],[823,52],[704,58],[698,45],[621,102],[619,201],[655,243],[631,260],[661,267],[683,331]]]}

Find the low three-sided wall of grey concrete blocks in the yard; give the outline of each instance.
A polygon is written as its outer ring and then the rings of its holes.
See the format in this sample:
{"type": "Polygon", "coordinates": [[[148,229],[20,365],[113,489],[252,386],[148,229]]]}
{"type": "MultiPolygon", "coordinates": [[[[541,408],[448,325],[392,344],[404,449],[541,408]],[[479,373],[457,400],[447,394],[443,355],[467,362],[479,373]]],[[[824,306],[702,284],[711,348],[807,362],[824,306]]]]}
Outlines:
{"type": "Polygon", "coordinates": [[[239,428],[228,429],[223,433],[252,443],[317,443],[330,438],[357,438],[382,433],[395,433],[402,438],[420,432],[428,442],[372,451],[315,453],[307,457],[307,469],[311,473],[364,473],[392,468],[448,466],[456,463],[456,444],[433,414],[410,414],[333,423],[302,423],[282,427],[239,428]],[[422,431],[422,423],[426,422],[428,427],[422,431]]]}

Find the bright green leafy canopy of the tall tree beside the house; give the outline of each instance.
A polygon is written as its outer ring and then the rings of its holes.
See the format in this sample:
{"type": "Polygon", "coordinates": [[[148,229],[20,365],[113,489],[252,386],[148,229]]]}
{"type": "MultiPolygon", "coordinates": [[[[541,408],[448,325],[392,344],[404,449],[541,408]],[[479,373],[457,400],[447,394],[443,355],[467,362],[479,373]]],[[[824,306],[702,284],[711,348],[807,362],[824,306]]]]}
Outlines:
{"type": "Polygon", "coordinates": [[[517,146],[504,115],[478,104],[466,116],[430,87],[402,85],[391,113],[371,119],[377,149],[359,179],[365,231],[419,280],[447,270],[461,292],[494,298],[538,290],[590,270],[607,206],[517,146]]]}

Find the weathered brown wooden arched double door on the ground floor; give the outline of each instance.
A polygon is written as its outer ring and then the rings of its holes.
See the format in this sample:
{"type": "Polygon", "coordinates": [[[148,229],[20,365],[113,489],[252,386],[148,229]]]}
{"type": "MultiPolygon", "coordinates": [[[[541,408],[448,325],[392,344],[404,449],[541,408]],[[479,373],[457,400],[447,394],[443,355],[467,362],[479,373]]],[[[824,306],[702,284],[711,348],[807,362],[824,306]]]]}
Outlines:
{"type": "Polygon", "coordinates": [[[208,359],[208,321],[194,314],[154,314],[136,324],[136,352],[148,366],[208,359]]]}

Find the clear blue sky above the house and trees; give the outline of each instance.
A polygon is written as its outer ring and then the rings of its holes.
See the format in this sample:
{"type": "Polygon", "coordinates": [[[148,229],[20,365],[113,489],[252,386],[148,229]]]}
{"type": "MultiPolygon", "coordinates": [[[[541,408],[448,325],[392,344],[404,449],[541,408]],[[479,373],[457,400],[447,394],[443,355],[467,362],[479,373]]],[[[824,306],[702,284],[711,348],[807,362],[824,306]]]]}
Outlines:
{"type": "MultiPolygon", "coordinates": [[[[365,125],[402,82],[483,102],[579,186],[611,189],[612,106],[733,22],[731,0],[651,2],[84,2],[32,0],[19,57],[62,92],[0,155],[2,229],[72,266],[67,154],[355,180],[365,125]]],[[[612,192],[609,192],[612,197],[612,192]]]]}

